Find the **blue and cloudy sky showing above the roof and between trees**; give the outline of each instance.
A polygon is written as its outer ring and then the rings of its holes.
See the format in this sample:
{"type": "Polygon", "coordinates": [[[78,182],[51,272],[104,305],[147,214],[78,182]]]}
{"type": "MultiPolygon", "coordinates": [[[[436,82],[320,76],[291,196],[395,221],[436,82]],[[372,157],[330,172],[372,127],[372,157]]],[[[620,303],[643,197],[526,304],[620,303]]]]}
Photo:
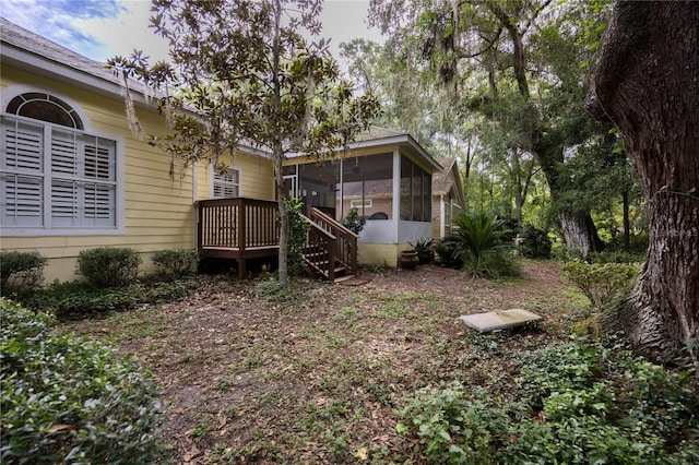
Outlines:
{"type": "MultiPolygon", "coordinates": [[[[143,50],[152,62],[167,45],[149,27],[150,0],[0,0],[4,19],[95,61],[143,50]]],[[[321,36],[341,62],[339,45],[353,38],[382,41],[366,23],[368,0],[325,0],[321,36]]]]}

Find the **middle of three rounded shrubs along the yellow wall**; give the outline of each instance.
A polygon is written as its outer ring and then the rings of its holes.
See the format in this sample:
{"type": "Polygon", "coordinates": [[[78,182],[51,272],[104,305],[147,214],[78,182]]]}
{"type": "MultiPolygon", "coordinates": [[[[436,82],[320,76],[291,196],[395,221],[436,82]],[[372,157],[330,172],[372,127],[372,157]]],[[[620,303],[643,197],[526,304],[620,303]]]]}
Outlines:
{"type": "Polygon", "coordinates": [[[129,248],[99,247],[78,255],[78,272],[95,287],[117,287],[139,276],[141,255],[129,248]]]}

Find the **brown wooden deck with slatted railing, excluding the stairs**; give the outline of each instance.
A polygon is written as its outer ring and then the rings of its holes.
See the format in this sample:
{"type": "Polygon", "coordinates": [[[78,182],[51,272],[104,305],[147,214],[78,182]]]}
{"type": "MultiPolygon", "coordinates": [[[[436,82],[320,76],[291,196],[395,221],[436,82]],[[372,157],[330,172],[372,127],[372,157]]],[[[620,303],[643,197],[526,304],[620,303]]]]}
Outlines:
{"type": "Polygon", "coordinates": [[[275,201],[212,199],[200,201],[198,206],[199,257],[236,260],[238,277],[245,278],[248,259],[279,254],[275,201]]]}

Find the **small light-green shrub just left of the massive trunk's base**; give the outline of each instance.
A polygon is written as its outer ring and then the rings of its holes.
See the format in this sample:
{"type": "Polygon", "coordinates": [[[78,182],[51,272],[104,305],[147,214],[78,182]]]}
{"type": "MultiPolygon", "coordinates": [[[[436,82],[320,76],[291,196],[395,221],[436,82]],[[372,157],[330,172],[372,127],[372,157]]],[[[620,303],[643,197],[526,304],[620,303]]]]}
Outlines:
{"type": "Polygon", "coordinates": [[[596,310],[628,295],[638,271],[639,265],[632,263],[568,262],[562,265],[564,275],[582,290],[596,310]]]}

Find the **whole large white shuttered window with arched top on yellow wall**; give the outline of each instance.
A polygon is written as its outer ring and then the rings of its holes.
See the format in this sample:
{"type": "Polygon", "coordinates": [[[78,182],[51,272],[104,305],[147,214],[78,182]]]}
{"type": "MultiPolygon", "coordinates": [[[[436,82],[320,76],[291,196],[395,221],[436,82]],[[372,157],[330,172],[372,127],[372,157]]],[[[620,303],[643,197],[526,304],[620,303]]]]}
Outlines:
{"type": "Polygon", "coordinates": [[[118,229],[116,139],[86,132],[80,108],[44,92],[23,92],[3,110],[2,234],[118,229]]]}

